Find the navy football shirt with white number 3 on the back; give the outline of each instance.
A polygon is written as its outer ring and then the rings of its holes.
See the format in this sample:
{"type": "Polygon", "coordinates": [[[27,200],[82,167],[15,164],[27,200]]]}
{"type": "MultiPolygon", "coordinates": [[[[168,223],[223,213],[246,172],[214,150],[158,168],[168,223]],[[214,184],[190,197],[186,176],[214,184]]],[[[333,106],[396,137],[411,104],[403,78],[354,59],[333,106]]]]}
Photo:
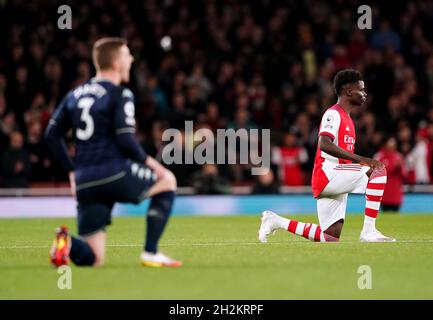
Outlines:
{"type": "Polygon", "coordinates": [[[108,177],[124,168],[127,158],[116,135],[119,130],[135,130],[130,90],[110,81],[89,80],[67,94],[53,120],[73,130],[77,183],[108,177]]]}

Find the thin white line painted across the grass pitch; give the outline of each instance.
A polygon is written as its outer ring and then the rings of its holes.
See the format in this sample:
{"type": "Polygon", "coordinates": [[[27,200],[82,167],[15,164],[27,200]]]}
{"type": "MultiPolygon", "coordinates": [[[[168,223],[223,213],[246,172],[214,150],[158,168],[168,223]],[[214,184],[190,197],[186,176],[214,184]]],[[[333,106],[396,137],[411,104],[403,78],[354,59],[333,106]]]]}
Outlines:
{"type": "MultiPolygon", "coordinates": [[[[257,245],[290,245],[293,243],[312,243],[307,241],[284,241],[284,242],[269,242],[266,244],[260,243],[260,242],[207,242],[207,243],[163,243],[160,246],[161,247],[170,247],[170,246],[186,246],[186,247],[213,247],[213,246],[257,246],[257,245]]],[[[339,243],[360,243],[358,240],[347,240],[337,243],[332,243],[332,245],[338,245],[339,243]]],[[[381,242],[378,242],[381,243],[381,242]]],[[[419,243],[419,244],[430,244],[433,243],[433,239],[425,239],[425,240],[400,240],[397,242],[394,242],[395,244],[398,243],[419,243]]],[[[364,244],[368,245],[368,244],[364,244]]],[[[122,248],[122,247],[142,247],[143,244],[107,244],[107,247],[111,248],[122,248]]],[[[50,248],[50,246],[43,246],[43,245],[35,245],[35,246],[0,246],[1,249],[47,249],[50,248]]]]}

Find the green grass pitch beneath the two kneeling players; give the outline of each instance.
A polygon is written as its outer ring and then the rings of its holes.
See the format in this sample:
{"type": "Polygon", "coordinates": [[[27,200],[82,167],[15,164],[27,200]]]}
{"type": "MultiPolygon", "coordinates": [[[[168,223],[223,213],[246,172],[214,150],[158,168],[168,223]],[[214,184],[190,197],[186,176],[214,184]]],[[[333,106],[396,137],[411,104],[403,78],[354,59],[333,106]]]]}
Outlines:
{"type": "MultiPolygon", "coordinates": [[[[314,216],[293,217],[317,222],[314,216]]],[[[0,220],[0,299],[433,299],[433,215],[381,215],[396,243],[360,243],[362,216],[348,216],[339,243],[284,231],[258,243],[258,216],[174,217],[160,249],[178,269],[139,266],[144,218],[116,217],[107,263],[72,267],[72,289],[48,264],[54,228],[73,219],[0,220]],[[358,268],[372,289],[358,288],[358,268]]]]}

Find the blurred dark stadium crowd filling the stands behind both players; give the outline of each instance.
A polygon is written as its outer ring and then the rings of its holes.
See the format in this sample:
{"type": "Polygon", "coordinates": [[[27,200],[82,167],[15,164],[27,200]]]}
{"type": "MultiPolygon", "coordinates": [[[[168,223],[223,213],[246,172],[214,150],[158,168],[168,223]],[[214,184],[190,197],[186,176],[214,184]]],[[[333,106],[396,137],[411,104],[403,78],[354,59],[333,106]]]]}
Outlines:
{"type": "Polygon", "coordinates": [[[172,165],[179,185],[224,193],[229,185],[275,192],[308,184],[321,114],[336,101],[332,78],[347,67],[363,73],[369,94],[352,115],[357,153],[372,157],[395,137],[390,150],[404,157],[406,183],[431,182],[432,1],[371,4],[372,30],[357,27],[360,1],[62,4],[72,8],[72,30],[57,28],[58,1],[0,1],[3,187],[66,181],[43,130],[63,95],[93,75],[92,44],[105,35],[127,38],[135,56],[129,87],[149,154],[158,157],[163,130],[185,120],[271,129],[273,174],[257,182],[245,165],[172,165]]]}

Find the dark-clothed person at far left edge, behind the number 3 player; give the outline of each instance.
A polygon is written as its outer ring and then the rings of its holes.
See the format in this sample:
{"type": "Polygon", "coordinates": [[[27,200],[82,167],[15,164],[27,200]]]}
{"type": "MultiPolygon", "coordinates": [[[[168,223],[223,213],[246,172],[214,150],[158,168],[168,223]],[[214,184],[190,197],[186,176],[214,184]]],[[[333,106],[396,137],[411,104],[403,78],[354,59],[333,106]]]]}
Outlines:
{"type": "Polygon", "coordinates": [[[10,135],[10,147],[1,157],[4,188],[27,188],[30,178],[30,155],[23,149],[23,135],[14,131],[10,135]]]}

